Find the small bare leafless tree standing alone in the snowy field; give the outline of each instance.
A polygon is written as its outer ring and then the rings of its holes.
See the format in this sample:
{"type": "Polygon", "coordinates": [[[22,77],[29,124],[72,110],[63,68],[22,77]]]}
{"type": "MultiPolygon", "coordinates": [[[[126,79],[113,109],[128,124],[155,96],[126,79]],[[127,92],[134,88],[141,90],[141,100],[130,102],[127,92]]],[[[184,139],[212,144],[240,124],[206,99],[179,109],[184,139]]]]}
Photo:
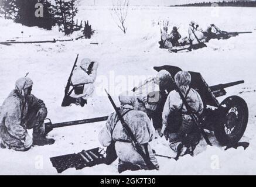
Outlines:
{"type": "Polygon", "coordinates": [[[125,20],[127,18],[129,0],[112,0],[111,16],[122,32],[127,32],[125,20]]]}

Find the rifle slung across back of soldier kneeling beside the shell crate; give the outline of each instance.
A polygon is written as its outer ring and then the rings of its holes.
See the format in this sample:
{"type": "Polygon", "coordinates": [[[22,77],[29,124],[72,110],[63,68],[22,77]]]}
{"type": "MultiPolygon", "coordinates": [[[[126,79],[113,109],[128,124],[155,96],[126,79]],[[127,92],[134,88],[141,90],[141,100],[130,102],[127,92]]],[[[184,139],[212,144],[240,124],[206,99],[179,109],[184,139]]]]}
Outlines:
{"type": "Polygon", "coordinates": [[[115,109],[115,112],[117,113],[118,119],[120,120],[120,122],[122,124],[122,127],[124,127],[125,133],[127,133],[128,137],[130,138],[131,143],[134,146],[135,150],[137,151],[137,153],[139,155],[141,155],[141,157],[143,158],[144,162],[146,163],[148,169],[150,169],[150,170],[156,169],[155,165],[153,165],[153,163],[151,162],[150,158],[142,150],[142,147],[138,143],[138,141],[136,140],[134,134],[132,133],[132,130],[125,123],[124,118],[122,117],[120,111],[118,110],[117,106],[115,105],[113,99],[111,98],[110,94],[107,92],[106,89],[105,89],[105,92],[107,93],[108,99],[110,99],[110,102],[111,102],[113,108],[115,109]]]}

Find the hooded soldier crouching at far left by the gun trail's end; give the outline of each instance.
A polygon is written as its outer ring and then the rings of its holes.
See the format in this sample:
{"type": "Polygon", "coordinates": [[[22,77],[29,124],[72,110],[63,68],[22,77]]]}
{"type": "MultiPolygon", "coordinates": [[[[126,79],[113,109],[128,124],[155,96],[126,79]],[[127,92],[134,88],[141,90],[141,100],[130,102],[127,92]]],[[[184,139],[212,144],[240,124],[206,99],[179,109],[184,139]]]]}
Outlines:
{"type": "Polygon", "coordinates": [[[26,151],[32,145],[53,144],[45,137],[43,120],[47,115],[45,103],[31,94],[33,82],[20,78],[15,89],[5,99],[0,111],[0,144],[2,148],[26,151]],[[33,139],[27,129],[33,129],[33,139]]]}

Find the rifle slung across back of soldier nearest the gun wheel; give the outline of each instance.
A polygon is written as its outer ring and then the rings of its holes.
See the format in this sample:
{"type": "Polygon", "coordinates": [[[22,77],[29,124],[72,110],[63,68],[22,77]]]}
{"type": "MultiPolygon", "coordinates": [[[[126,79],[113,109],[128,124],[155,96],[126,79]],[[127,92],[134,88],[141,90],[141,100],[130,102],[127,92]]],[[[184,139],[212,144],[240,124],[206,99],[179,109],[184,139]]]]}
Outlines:
{"type": "Polygon", "coordinates": [[[206,140],[206,143],[210,146],[212,146],[209,138],[207,137],[206,132],[204,131],[202,124],[199,122],[199,120],[197,119],[197,116],[193,113],[192,109],[190,108],[189,104],[187,103],[185,97],[183,96],[182,92],[180,91],[179,87],[176,85],[174,79],[171,77],[171,81],[172,84],[175,86],[176,91],[179,93],[180,98],[182,98],[182,102],[185,105],[187,112],[190,113],[190,116],[192,117],[194,123],[196,124],[196,126],[198,127],[198,129],[200,130],[200,133],[202,134],[204,140],[206,140]]]}

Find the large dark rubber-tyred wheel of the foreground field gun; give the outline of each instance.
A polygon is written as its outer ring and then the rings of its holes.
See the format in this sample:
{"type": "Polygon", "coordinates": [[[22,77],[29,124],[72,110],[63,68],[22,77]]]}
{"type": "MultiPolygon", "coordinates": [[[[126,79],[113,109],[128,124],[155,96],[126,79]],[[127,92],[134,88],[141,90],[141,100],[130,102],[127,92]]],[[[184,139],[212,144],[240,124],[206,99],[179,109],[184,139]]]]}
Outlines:
{"type": "Polygon", "coordinates": [[[248,107],[244,99],[230,96],[220,104],[220,120],[214,130],[223,146],[237,143],[244,135],[248,122],[248,107]]]}

